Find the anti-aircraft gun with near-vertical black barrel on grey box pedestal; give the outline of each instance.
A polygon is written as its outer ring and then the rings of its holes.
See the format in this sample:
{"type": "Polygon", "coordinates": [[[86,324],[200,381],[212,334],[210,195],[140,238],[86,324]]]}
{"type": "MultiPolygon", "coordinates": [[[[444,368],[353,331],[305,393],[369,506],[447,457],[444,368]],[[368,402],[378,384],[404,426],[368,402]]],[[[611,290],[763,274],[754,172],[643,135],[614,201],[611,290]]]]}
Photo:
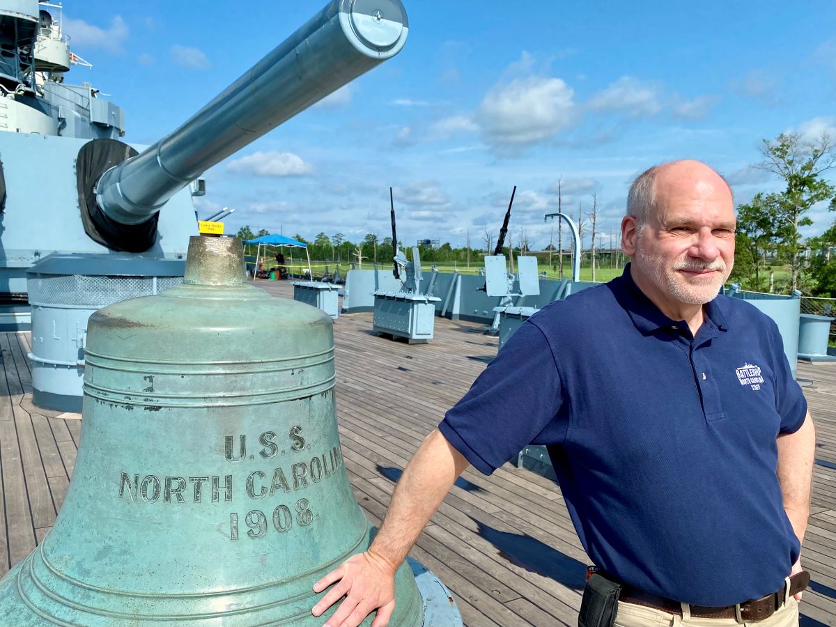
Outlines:
{"type": "Polygon", "coordinates": [[[395,228],[395,199],[389,188],[390,217],[392,221],[392,274],[400,280],[397,292],[378,290],[375,292],[375,318],[373,329],[381,335],[405,338],[410,344],[426,344],[432,339],[436,321],[436,303],[441,298],[432,295],[436,283],[436,270],[421,292],[421,254],[418,247],[412,248],[412,260],[406,259],[405,252],[398,246],[395,228]]]}

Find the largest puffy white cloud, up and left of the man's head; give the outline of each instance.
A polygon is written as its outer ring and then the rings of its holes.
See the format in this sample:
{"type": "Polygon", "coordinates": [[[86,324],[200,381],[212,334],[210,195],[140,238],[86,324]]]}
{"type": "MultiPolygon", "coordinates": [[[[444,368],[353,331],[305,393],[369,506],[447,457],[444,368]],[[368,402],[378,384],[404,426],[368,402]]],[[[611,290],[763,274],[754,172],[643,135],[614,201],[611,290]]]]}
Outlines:
{"type": "Polygon", "coordinates": [[[562,79],[543,76],[496,84],[477,114],[482,137],[499,152],[517,152],[550,140],[574,124],[573,95],[562,79]]]}

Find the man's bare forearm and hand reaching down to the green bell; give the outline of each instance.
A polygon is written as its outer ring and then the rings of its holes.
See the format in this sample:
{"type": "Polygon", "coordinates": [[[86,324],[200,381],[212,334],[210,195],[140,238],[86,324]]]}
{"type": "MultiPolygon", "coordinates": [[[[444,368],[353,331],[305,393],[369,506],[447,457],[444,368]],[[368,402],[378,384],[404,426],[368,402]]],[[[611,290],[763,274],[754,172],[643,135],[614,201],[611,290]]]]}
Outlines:
{"type": "Polygon", "coordinates": [[[326,627],[357,627],[375,609],[372,627],[385,627],[395,609],[395,571],[467,466],[441,431],[426,436],[395,486],[389,512],[369,550],[347,559],[314,584],[314,592],[322,592],[339,582],[314,605],[314,616],[345,596],[326,627]]]}

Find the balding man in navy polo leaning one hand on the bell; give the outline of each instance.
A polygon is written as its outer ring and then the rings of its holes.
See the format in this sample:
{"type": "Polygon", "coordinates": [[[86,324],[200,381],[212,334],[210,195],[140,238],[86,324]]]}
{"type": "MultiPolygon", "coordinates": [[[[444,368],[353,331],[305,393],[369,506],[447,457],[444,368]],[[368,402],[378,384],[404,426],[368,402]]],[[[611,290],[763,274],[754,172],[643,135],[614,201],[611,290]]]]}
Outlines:
{"type": "Polygon", "coordinates": [[[636,179],[624,275],[517,330],[421,444],[370,549],[314,586],[335,584],[314,614],[345,596],[329,627],[375,609],[387,624],[395,569],[456,477],[533,442],[584,549],[621,584],[615,624],[798,625],[813,421],[776,325],[717,296],[735,223],[732,191],[698,161],[636,179]]]}

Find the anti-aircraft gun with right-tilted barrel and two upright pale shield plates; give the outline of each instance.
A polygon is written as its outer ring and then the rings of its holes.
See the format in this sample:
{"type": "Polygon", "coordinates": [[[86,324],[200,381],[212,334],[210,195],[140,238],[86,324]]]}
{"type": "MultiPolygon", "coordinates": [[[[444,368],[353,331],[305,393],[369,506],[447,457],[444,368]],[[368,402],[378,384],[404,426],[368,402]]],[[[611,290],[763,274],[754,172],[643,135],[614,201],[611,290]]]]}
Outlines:
{"type": "MultiPolygon", "coordinates": [[[[502,299],[499,305],[493,308],[493,322],[485,328],[485,333],[490,335],[499,334],[500,320],[502,314],[517,313],[512,307],[513,299],[520,296],[536,296],[540,293],[540,280],[538,277],[537,257],[517,257],[517,274],[508,272],[507,260],[502,254],[502,247],[505,245],[505,237],[508,232],[508,222],[511,220],[511,206],[514,203],[514,195],[517,193],[515,185],[511,192],[511,201],[508,202],[508,209],[505,212],[505,219],[497,238],[497,247],[492,255],[485,257],[485,286],[481,289],[488,296],[500,296],[502,299]],[[519,291],[514,292],[514,284],[518,284],[519,291]]],[[[513,255],[513,250],[509,251],[513,255]]]]}

